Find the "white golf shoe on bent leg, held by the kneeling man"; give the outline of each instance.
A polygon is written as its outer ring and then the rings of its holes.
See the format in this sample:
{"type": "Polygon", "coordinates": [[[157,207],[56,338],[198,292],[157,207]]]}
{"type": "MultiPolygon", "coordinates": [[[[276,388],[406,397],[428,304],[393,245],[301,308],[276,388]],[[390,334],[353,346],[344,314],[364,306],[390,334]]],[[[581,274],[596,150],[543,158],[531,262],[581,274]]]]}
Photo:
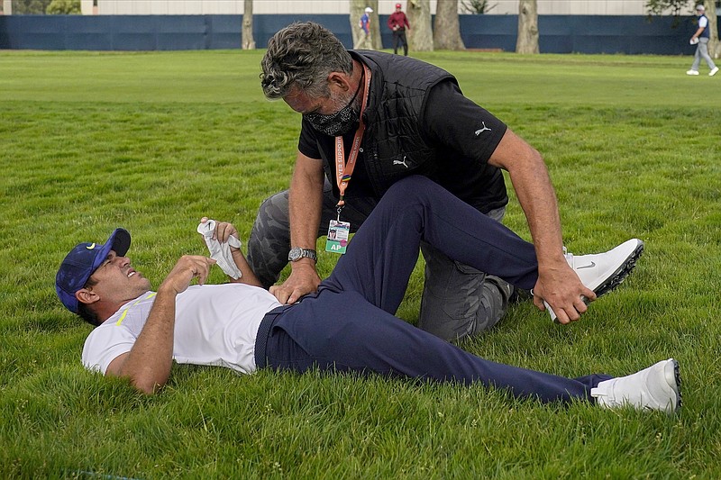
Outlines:
{"type": "MultiPolygon", "coordinates": [[[[581,283],[593,290],[598,298],[623,283],[642,253],[643,241],[631,239],[606,253],[579,256],[565,253],[565,257],[569,267],[579,276],[581,283]]],[[[548,303],[543,302],[543,304],[551,315],[551,320],[555,321],[556,313],[548,303]]]]}

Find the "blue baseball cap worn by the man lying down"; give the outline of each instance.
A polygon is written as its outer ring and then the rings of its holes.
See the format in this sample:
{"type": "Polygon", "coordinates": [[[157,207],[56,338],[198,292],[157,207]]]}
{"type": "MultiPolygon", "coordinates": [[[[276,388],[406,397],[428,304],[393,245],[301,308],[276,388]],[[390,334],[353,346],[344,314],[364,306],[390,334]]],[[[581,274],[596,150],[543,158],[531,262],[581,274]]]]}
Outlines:
{"type": "Polygon", "coordinates": [[[78,313],[78,299],[75,294],[87,284],[97,267],[105,261],[110,250],[123,257],[130,249],[130,233],[115,229],[104,244],[78,243],[60,264],[55,276],[55,291],[65,308],[78,313]]]}

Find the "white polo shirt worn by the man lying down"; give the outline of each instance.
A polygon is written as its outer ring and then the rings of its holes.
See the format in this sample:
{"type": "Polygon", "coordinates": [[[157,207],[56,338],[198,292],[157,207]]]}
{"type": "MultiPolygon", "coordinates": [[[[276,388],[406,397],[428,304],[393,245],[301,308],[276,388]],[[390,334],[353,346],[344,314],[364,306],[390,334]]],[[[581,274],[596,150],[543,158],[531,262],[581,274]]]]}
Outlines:
{"type": "MultiPolygon", "coordinates": [[[[154,300],[155,292],[142,294],[90,332],[83,348],[83,365],[105,375],[110,362],[132,349],[154,300]]],[[[275,296],[257,286],[189,286],[176,298],[173,359],[253,373],[260,322],[278,306],[275,296]]]]}

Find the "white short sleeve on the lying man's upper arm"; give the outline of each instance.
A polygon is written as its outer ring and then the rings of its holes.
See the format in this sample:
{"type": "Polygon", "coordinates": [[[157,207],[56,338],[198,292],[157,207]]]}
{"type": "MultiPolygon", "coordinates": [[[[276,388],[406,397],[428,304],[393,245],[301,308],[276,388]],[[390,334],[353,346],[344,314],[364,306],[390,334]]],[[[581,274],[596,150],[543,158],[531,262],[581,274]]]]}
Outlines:
{"type": "Polygon", "coordinates": [[[85,340],[83,366],[105,375],[110,363],[123,353],[128,353],[135,340],[132,332],[122,326],[97,327],[85,340]]]}

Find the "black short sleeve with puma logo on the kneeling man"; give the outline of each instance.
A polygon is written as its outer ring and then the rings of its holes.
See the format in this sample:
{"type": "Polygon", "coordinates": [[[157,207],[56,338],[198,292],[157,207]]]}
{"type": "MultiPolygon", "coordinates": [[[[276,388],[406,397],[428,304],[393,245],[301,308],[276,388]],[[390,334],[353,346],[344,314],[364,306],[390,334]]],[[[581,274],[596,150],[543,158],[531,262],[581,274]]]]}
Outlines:
{"type": "Polygon", "coordinates": [[[436,147],[455,150],[464,158],[483,164],[488,162],[507,130],[504,122],[465,97],[451,80],[431,90],[423,124],[427,137],[436,147]]]}

